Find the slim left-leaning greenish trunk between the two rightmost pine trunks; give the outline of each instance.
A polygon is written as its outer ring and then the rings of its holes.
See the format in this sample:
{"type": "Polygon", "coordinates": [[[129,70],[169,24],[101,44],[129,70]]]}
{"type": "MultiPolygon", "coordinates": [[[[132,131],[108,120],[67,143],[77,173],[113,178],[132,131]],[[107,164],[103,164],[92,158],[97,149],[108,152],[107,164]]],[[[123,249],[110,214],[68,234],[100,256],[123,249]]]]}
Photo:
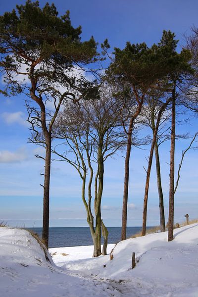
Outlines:
{"type": "Polygon", "coordinates": [[[159,195],[159,216],[160,216],[160,231],[166,231],[165,227],[165,215],[164,215],[164,199],[163,199],[163,191],[161,185],[161,173],[160,173],[160,161],[159,161],[159,151],[158,145],[155,142],[155,162],[156,162],[156,174],[157,174],[157,190],[159,195]]]}

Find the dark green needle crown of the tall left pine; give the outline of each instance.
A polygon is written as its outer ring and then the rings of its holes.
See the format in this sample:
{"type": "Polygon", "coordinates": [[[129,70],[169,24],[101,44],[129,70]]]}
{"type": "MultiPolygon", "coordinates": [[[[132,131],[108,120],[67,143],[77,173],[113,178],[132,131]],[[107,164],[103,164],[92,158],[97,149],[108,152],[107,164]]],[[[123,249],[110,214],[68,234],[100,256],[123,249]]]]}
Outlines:
{"type": "MultiPolygon", "coordinates": [[[[66,71],[98,58],[94,38],[82,42],[80,34],[81,27],[71,25],[69,11],[59,17],[54,4],[40,8],[39,1],[28,0],[16,5],[0,16],[0,68],[6,82],[13,83],[13,75],[22,71],[30,78],[34,73],[37,83],[45,78],[70,84],[66,71]]],[[[20,87],[12,84],[14,91],[20,92],[20,87]]]]}

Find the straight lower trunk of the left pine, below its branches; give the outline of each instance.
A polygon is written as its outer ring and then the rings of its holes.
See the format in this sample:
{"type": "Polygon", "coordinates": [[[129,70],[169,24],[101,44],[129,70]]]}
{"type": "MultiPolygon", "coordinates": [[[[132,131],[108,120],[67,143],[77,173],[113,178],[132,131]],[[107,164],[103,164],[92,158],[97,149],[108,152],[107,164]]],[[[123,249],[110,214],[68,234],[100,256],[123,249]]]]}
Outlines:
{"type": "Polygon", "coordinates": [[[51,135],[46,138],[46,157],[45,157],[45,178],[44,178],[44,203],[43,203],[43,233],[42,239],[48,248],[49,245],[49,181],[51,165],[51,135]]]}

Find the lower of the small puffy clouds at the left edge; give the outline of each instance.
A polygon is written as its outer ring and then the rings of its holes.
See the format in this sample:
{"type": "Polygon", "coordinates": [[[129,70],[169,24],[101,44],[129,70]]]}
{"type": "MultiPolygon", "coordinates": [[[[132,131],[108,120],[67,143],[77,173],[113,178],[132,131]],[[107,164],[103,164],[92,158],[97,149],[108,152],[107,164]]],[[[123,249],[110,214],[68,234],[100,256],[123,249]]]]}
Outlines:
{"type": "Polygon", "coordinates": [[[0,151],[0,163],[18,163],[25,159],[27,159],[27,154],[22,148],[15,152],[9,150],[0,151]]]}

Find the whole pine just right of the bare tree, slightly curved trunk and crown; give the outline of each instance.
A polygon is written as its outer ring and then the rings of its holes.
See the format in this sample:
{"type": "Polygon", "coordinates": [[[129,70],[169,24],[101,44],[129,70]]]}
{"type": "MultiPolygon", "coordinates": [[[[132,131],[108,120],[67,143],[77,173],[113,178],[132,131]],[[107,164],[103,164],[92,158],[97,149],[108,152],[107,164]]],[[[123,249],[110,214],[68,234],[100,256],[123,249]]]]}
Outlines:
{"type": "MultiPolygon", "coordinates": [[[[127,132],[127,149],[125,157],[124,194],[122,208],[122,234],[121,240],[126,239],[127,225],[127,201],[129,187],[129,161],[132,144],[132,132],[134,123],[141,112],[148,90],[157,81],[166,77],[172,69],[171,32],[163,31],[162,38],[158,45],[148,48],[145,43],[131,45],[127,42],[124,49],[114,49],[114,58],[107,71],[110,80],[121,85],[122,89],[130,89],[131,98],[135,98],[136,108],[132,109],[130,124],[127,132]]],[[[108,43],[103,44],[107,50],[108,43]]],[[[134,104],[133,104],[134,105],[134,104]]]]}

